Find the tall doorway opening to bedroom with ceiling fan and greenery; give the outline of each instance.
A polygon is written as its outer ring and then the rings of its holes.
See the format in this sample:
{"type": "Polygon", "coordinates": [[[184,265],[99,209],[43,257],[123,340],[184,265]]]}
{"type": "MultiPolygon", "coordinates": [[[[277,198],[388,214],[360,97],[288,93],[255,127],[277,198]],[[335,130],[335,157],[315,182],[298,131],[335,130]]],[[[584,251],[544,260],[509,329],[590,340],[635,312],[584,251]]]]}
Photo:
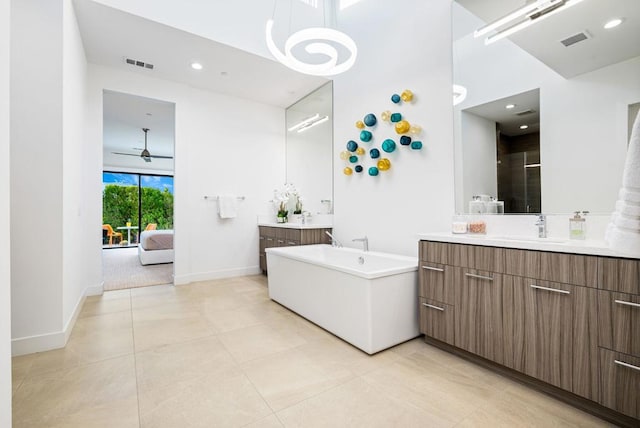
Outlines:
{"type": "Polygon", "coordinates": [[[104,290],[173,283],[175,104],[103,91],[104,290]]]}

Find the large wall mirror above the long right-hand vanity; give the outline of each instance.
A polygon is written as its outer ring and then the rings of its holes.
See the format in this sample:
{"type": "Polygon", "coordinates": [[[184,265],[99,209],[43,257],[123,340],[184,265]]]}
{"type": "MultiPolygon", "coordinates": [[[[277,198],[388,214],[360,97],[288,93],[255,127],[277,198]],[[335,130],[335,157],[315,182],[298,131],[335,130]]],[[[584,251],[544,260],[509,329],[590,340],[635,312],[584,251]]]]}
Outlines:
{"type": "Polygon", "coordinates": [[[511,213],[610,213],[640,102],[640,1],[539,6],[517,19],[539,22],[474,37],[534,3],[565,2],[453,3],[453,81],[466,89],[454,107],[456,211],[488,195],[511,213]],[[622,24],[605,29],[614,17],[622,24]]]}

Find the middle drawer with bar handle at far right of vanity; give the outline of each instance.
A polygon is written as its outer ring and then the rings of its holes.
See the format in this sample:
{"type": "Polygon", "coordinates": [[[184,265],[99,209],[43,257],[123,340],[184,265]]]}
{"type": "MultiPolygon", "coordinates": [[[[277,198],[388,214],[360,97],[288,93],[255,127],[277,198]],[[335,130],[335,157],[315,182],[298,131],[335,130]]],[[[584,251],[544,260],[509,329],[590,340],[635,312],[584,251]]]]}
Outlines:
{"type": "Polygon", "coordinates": [[[598,291],[598,345],[640,358],[640,296],[598,291]]]}

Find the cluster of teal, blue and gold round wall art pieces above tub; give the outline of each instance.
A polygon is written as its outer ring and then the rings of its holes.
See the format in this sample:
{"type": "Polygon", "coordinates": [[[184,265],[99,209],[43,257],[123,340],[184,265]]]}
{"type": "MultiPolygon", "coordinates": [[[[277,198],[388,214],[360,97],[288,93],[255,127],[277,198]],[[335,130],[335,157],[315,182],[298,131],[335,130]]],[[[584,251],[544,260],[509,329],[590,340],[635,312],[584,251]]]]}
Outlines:
{"type": "MultiPolygon", "coordinates": [[[[400,95],[393,94],[390,98],[393,104],[411,104],[414,101],[413,92],[408,89],[402,91],[400,95]]],[[[353,176],[367,171],[369,176],[377,177],[384,175],[384,172],[391,169],[389,154],[396,150],[417,151],[422,149],[422,141],[416,140],[422,133],[422,127],[411,123],[409,118],[404,117],[399,112],[385,110],[380,114],[380,121],[374,113],[367,113],[362,119],[355,122],[357,137],[346,143],[346,150],[340,152],[340,159],[345,161],[343,169],[344,175],[353,176]],[[374,134],[387,136],[389,131],[382,131],[379,127],[390,127],[395,130],[399,137],[376,139],[374,134]],[[380,132],[381,131],[381,132],[380,132]],[[358,140],[356,142],[356,140],[358,140]],[[382,173],[382,174],[381,174],[382,173]]],[[[393,132],[393,131],[392,131],[393,132]]]]}

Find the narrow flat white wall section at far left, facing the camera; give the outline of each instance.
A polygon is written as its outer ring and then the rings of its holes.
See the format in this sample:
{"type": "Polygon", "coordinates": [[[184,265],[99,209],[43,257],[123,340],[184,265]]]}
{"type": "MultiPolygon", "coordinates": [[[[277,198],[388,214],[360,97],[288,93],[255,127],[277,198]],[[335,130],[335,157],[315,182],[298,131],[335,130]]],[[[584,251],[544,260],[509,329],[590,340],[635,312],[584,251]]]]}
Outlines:
{"type": "Polygon", "coordinates": [[[14,0],[11,6],[12,337],[39,336],[51,340],[45,347],[59,347],[62,2],[14,0]]]}

